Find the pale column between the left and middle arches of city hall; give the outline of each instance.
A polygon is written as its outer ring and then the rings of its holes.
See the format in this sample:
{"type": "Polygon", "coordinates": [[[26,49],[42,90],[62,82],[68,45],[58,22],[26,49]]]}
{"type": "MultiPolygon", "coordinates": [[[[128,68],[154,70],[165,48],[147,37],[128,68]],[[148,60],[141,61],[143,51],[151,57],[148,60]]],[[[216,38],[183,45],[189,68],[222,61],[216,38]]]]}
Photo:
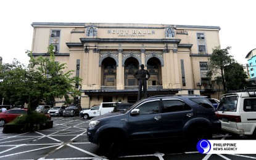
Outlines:
{"type": "Polygon", "coordinates": [[[117,89],[124,89],[123,49],[118,49],[117,89]]]}

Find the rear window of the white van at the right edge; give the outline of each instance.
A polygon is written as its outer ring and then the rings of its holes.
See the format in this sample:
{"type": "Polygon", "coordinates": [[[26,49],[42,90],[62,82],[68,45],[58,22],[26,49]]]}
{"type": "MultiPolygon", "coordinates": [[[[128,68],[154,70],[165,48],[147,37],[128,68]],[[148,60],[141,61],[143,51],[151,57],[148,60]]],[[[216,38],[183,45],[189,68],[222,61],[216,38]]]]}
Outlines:
{"type": "Polygon", "coordinates": [[[220,100],[217,111],[234,111],[236,112],[238,96],[223,97],[220,100]]]}

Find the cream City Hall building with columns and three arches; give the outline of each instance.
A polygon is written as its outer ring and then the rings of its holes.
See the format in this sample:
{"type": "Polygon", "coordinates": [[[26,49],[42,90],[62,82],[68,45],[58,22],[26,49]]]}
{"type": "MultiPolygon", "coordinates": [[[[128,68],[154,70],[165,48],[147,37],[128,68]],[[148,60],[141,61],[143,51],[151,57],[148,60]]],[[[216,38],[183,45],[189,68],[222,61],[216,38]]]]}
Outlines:
{"type": "MultiPolygon", "coordinates": [[[[129,23],[32,23],[33,56],[49,56],[67,64],[83,81],[83,108],[101,102],[138,99],[133,74],[144,64],[151,77],[148,97],[199,94],[220,98],[220,88],[208,79],[212,49],[220,46],[219,26],[129,23]]],[[[144,97],[142,95],[142,97],[144,97]]],[[[58,99],[56,99],[58,101],[58,99]]]]}

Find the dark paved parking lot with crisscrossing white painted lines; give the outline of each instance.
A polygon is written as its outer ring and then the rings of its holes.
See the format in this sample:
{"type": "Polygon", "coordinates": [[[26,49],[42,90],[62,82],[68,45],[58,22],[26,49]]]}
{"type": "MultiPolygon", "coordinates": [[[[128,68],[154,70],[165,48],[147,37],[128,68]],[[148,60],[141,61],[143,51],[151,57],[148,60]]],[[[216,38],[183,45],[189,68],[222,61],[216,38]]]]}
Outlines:
{"type": "MultiPolygon", "coordinates": [[[[0,127],[0,159],[107,159],[97,145],[86,140],[88,120],[52,117],[51,129],[23,134],[3,134],[0,127]]],[[[213,139],[234,139],[215,134],[213,139]]],[[[236,137],[236,139],[246,137],[236,137]]],[[[256,154],[200,154],[186,143],[138,146],[115,159],[256,159],[256,154]]]]}

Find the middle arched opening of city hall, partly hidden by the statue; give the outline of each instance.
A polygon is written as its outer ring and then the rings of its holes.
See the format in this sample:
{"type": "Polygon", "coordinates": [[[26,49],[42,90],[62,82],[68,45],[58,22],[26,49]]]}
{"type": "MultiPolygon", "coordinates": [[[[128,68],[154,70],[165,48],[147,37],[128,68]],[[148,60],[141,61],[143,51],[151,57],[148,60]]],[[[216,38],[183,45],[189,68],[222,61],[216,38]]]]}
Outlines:
{"type": "Polygon", "coordinates": [[[136,58],[130,57],[125,61],[125,86],[138,86],[138,81],[133,74],[139,69],[139,62],[136,58]]]}

